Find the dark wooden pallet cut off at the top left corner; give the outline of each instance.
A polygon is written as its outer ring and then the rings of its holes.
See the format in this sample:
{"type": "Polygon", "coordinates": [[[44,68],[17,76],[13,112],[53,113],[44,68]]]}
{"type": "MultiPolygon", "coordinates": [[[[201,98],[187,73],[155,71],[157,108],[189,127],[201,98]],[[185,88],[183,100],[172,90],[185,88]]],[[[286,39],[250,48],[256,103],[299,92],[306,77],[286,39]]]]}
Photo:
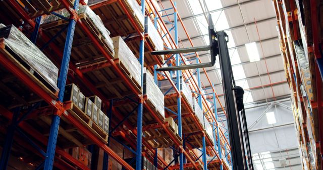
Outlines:
{"type": "MultiPolygon", "coordinates": [[[[73,7],[75,0],[68,0],[73,7]]],[[[24,7],[29,17],[34,18],[44,14],[49,15],[50,12],[65,8],[59,0],[19,0],[18,3],[24,7]]]]}

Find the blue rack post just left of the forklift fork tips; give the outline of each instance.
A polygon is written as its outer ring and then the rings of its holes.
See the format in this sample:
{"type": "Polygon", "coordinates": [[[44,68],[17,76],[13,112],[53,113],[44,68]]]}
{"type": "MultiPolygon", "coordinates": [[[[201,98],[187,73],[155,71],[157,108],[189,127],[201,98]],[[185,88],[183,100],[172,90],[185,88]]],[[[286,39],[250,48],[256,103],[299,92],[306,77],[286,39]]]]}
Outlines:
{"type": "MultiPolygon", "coordinates": [[[[145,1],[141,1],[141,12],[145,18],[145,1]]],[[[147,17],[147,20],[149,18],[147,17]]],[[[140,47],[139,47],[139,62],[141,64],[141,87],[143,87],[143,64],[144,64],[144,37],[141,37],[140,47]]],[[[143,101],[138,104],[138,121],[137,121],[137,162],[136,169],[141,170],[141,151],[142,151],[142,106],[143,101]]]]}

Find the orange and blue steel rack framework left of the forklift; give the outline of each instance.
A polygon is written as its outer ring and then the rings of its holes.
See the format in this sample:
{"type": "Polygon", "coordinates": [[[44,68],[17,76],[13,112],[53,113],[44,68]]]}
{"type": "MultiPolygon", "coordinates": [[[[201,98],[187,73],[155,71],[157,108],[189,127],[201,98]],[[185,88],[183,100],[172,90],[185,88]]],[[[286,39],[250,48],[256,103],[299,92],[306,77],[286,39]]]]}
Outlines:
{"type": "MultiPolygon", "coordinates": [[[[173,78],[170,76],[168,72],[164,73],[157,73],[154,71],[154,77],[155,77],[155,82],[157,82],[157,77],[160,78],[167,78],[170,83],[172,84],[172,88],[176,91],[177,94],[177,106],[178,106],[178,113],[174,113],[178,118],[178,127],[179,127],[179,136],[181,137],[181,140],[176,139],[176,135],[172,133],[168,127],[168,124],[165,123],[163,120],[161,120],[155,113],[155,111],[145,102],[144,96],[142,92],[138,92],[137,89],[129,82],[129,80],[126,78],[126,76],[122,73],[119,67],[117,67],[116,63],[112,60],[112,57],[110,54],[106,53],[104,51],[103,47],[100,45],[100,43],[96,40],[94,35],[92,35],[91,31],[85,26],[84,23],[80,20],[78,17],[77,13],[75,12],[75,9],[78,8],[79,3],[82,5],[86,5],[84,1],[79,1],[75,0],[74,6],[69,3],[69,1],[60,1],[63,5],[64,8],[66,8],[71,17],[68,20],[68,28],[67,28],[67,34],[66,34],[66,42],[65,42],[65,47],[63,53],[60,51],[60,49],[53,43],[50,43],[53,38],[47,37],[44,34],[38,35],[39,32],[39,25],[40,25],[40,18],[41,17],[30,17],[28,13],[21,7],[16,0],[8,0],[6,3],[14,9],[15,15],[18,15],[21,17],[25,22],[29,24],[30,27],[33,29],[33,33],[31,36],[31,40],[35,43],[37,40],[37,37],[42,39],[43,41],[47,42],[45,45],[49,46],[55,53],[57,54],[58,58],[53,59],[56,60],[56,62],[62,63],[61,64],[61,69],[60,69],[60,74],[59,74],[59,81],[58,81],[58,88],[60,89],[60,93],[58,94],[57,97],[52,97],[48,95],[47,92],[45,92],[41,87],[39,87],[39,84],[35,83],[32,81],[26,73],[22,72],[17,68],[13,63],[8,61],[6,57],[3,54],[0,54],[0,62],[3,66],[6,67],[10,72],[12,72],[17,78],[19,78],[22,82],[26,84],[30,90],[32,90],[34,93],[36,93],[39,97],[41,97],[47,104],[52,106],[55,109],[55,113],[53,113],[53,117],[51,120],[51,127],[50,127],[50,133],[49,137],[46,138],[44,137],[41,133],[38,133],[36,129],[30,127],[27,123],[25,123],[23,120],[25,117],[28,117],[30,115],[23,115],[23,117],[19,120],[17,120],[17,117],[19,115],[19,111],[15,113],[11,113],[8,109],[5,107],[1,106],[2,114],[9,120],[12,120],[14,124],[16,124],[19,128],[23,129],[28,135],[32,136],[35,140],[39,141],[40,143],[47,145],[47,150],[43,151],[41,148],[39,148],[36,144],[34,144],[34,147],[43,155],[44,157],[44,162],[42,162],[38,168],[44,168],[44,169],[51,169],[53,165],[61,168],[61,169],[66,169],[68,167],[76,166],[80,169],[88,169],[88,167],[85,167],[82,163],[80,163],[78,160],[73,158],[71,155],[66,153],[63,149],[60,149],[59,147],[56,146],[57,142],[57,137],[58,137],[58,130],[60,127],[60,119],[61,117],[64,117],[67,119],[69,122],[71,122],[75,127],[77,127],[81,132],[83,132],[90,140],[93,141],[94,144],[99,146],[101,149],[104,150],[104,160],[103,162],[103,169],[107,169],[107,155],[111,156],[113,159],[117,160],[123,167],[126,169],[133,169],[125,160],[123,160],[120,156],[118,156],[108,145],[106,145],[104,142],[102,142],[99,138],[97,138],[91,131],[89,131],[87,128],[84,127],[83,124],[81,124],[76,118],[71,116],[70,114],[65,114],[65,106],[61,101],[63,101],[63,96],[64,96],[64,89],[65,89],[65,84],[67,80],[67,76],[77,76],[83,83],[82,86],[87,87],[90,89],[95,95],[100,97],[102,101],[104,101],[105,104],[110,106],[110,109],[108,111],[108,114],[111,115],[113,112],[116,117],[120,120],[120,123],[118,123],[114,127],[114,129],[118,128],[118,125],[124,124],[127,126],[128,129],[130,129],[133,134],[137,135],[137,142],[132,143],[134,144],[136,151],[133,149],[129,148],[127,145],[123,144],[122,141],[119,141],[128,148],[129,150],[133,151],[137,156],[136,156],[136,161],[137,161],[137,167],[136,169],[141,169],[141,155],[144,155],[148,160],[153,161],[154,165],[157,166],[158,168],[169,168],[169,169],[183,169],[183,168],[195,168],[195,169],[228,169],[229,166],[224,165],[224,160],[229,162],[230,164],[230,144],[227,138],[228,131],[223,132],[222,129],[220,128],[220,124],[218,122],[218,114],[217,114],[217,106],[216,106],[216,100],[221,105],[222,110],[225,112],[224,107],[222,106],[220,99],[217,95],[217,93],[214,90],[214,85],[211,83],[209,77],[207,76],[206,70],[203,68],[203,71],[205,72],[205,75],[207,77],[207,80],[209,84],[211,85],[210,89],[212,89],[212,95],[213,95],[213,101],[207,101],[205,95],[202,93],[203,89],[201,87],[201,80],[200,80],[200,70],[196,69],[195,72],[192,72],[190,70],[185,70],[185,71],[176,71],[176,80],[175,83],[173,82],[173,78]],[[122,77],[122,79],[126,82],[126,84],[129,86],[133,94],[135,94],[136,99],[138,101],[138,111],[137,111],[137,127],[131,126],[128,121],[127,117],[123,117],[118,111],[114,108],[113,106],[113,101],[108,100],[105,96],[103,96],[94,86],[91,81],[89,81],[86,77],[83,76],[83,73],[75,67],[72,63],[70,63],[70,55],[71,55],[71,50],[72,50],[72,41],[73,41],[73,36],[74,36],[74,30],[76,24],[78,27],[80,27],[84,33],[89,37],[89,39],[92,41],[92,43],[95,45],[98,51],[100,51],[104,57],[110,62],[112,67],[118,72],[118,74],[122,77]],[[73,73],[69,71],[69,69],[73,70],[73,73]],[[197,79],[195,78],[195,75],[197,76],[197,79]],[[213,138],[214,138],[214,143],[212,143],[211,140],[206,140],[205,139],[205,131],[202,126],[199,125],[198,120],[194,119],[194,123],[197,124],[197,126],[200,129],[200,133],[202,134],[202,149],[201,155],[196,155],[192,152],[192,149],[196,148],[192,145],[185,144],[185,138],[182,137],[182,114],[181,114],[181,103],[184,103],[184,105],[188,106],[185,100],[182,100],[181,98],[181,92],[180,92],[180,80],[183,77],[186,82],[190,84],[190,88],[192,91],[197,94],[197,99],[198,99],[198,105],[202,108],[203,114],[205,115],[204,121],[205,123],[210,123],[212,126],[213,130],[213,138]],[[58,98],[58,100],[56,100],[58,98]],[[209,106],[209,103],[212,103],[212,106],[209,106]],[[143,108],[147,109],[149,113],[155,118],[155,120],[158,123],[157,126],[150,126],[150,127],[143,127],[143,108]],[[214,112],[213,109],[214,108],[214,112]],[[14,116],[13,116],[14,115],[14,116]],[[16,120],[15,120],[16,119],[16,120]],[[163,160],[158,154],[157,150],[152,148],[149,143],[144,141],[142,139],[142,132],[143,130],[147,128],[162,128],[165,130],[167,135],[175,142],[175,147],[178,148],[177,150],[180,155],[179,155],[179,164],[178,165],[170,165],[163,160]],[[184,138],[184,140],[183,140],[184,138]],[[145,146],[145,149],[142,149],[142,146],[145,146]],[[225,153],[223,153],[225,152],[225,153]],[[204,154],[203,154],[204,153],[204,154]],[[206,158],[206,153],[212,158],[210,160],[207,160],[206,158]],[[153,155],[153,158],[151,158],[151,155],[153,155]],[[223,157],[223,155],[225,157],[223,157]],[[202,157],[202,160],[200,158],[202,157]],[[54,159],[60,160],[61,158],[64,158],[67,160],[69,163],[66,161],[62,161],[63,163],[54,163],[54,159]],[[190,163],[186,163],[186,159],[189,160],[190,163]],[[208,167],[209,165],[209,167],[208,167]],[[202,167],[203,166],[203,167],[202,167]]],[[[101,5],[106,5],[109,3],[119,3],[119,5],[122,7],[122,10],[126,13],[126,17],[131,21],[133,26],[135,27],[140,41],[140,49],[139,49],[139,62],[141,64],[141,77],[143,77],[143,69],[144,69],[144,47],[146,46],[149,50],[151,50],[151,46],[147,43],[145,43],[145,34],[139,29],[139,27],[136,25],[136,22],[130,15],[129,9],[126,8],[124,1],[122,0],[111,0],[111,1],[106,1],[105,3],[102,3],[101,5]]],[[[142,13],[144,16],[148,16],[148,19],[152,19],[154,21],[155,27],[159,26],[162,28],[162,31],[159,31],[159,34],[161,37],[164,39],[164,44],[168,44],[170,46],[165,46],[165,48],[179,48],[179,39],[177,35],[177,30],[178,30],[178,21],[181,23],[181,26],[183,27],[187,38],[189,39],[190,44],[193,46],[193,42],[191,38],[189,37],[187,30],[183,24],[183,21],[180,17],[180,15],[177,12],[176,9],[176,3],[173,3],[172,0],[170,0],[170,3],[172,4],[172,8],[169,9],[163,9],[163,10],[157,10],[156,5],[153,3],[153,0],[146,0],[146,1],[138,1],[138,3],[141,3],[141,8],[142,8],[142,13]],[[146,5],[146,6],[145,6],[146,5]],[[159,12],[165,12],[165,11],[172,11],[170,14],[161,16],[159,12]],[[166,22],[170,23],[171,21],[166,21],[164,18],[173,15],[174,16],[174,23],[172,24],[172,28],[169,30],[168,27],[166,26],[166,22]],[[170,33],[171,30],[174,30],[174,35],[175,38],[172,37],[172,34],[170,33]]],[[[98,5],[100,6],[100,4],[98,5]]],[[[60,34],[60,33],[57,33],[60,34]]],[[[55,39],[55,37],[54,37],[55,39]]],[[[197,53],[196,55],[196,62],[200,62],[199,56],[197,53]]],[[[180,64],[186,64],[188,61],[184,58],[184,55],[182,54],[176,54],[175,56],[167,56],[167,61],[172,61],[173,65],[180,65],[180,64]]],[[[162,66],[164,63],[161,63],[160,60],[157,60],[157,65],[162,66]]],[[[166,63],[165,62],[165,63],[166,63]]],[[[157,67],[151,66],[154,69],[157,67]]],[[[143,85],[143,78],[141,78],[141,87],[143,85]]],[[[206,94],[208,95],[208,94],[206,94]]],[[[190,111],[191,113],[193,111],[190,111]]],[[[108,115],[109,116],[109,115],[108,115]]],[[[10,148],[13,142],[13,134],[15,132],[15,128],[8,129],[7,131],[7,137],[6,137],[6,143],[5,143],[5,149],[2,154],[1,158],[1,164],[0,167],[3,168],[7,165],[8,163],[8,157],[10,154],[10,148]]],[[[21,132],[23,133],[23,132],[21,132]]],[[[192,134],[194,135],[194,134],[192,134]]],[[[123,136],[124,140],[127,140],[126,136],[123,136]]],[[[28,137],[27,137],[28,138],[28,137]]],[[[109,140],[108,140],[109,141],[109,140]]],[[[30,143],[34,143],[31,139],[29,140],[30,143]]],[[[133,147],[133,148],[134,148],[133,147]]],[[[175,150],[176,150],[175,148],[175,150]]],[[[174,161],[174,160],[173,160],[174,161]]],[[[172,161],[172,162],[173,162],[172,161]]],[[[171,162],[171,163],[172,163],[171,162]]]]}

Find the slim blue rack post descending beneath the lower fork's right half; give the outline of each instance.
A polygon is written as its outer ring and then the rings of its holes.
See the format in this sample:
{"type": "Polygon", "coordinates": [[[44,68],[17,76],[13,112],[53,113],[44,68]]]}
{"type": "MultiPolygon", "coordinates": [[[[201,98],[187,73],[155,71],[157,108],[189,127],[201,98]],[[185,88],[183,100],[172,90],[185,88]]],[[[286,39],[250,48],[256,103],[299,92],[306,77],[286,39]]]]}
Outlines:
{"type": "MultiPolygon", "coordinates": [[[[199,63],[198,58],[196,58],[196,63],[199,63]]],[[[196,72],[197,72],[198,89],[201,89],[200,69],[197,68],[196,72]]],[[[202,109],[202,94],[199,94],[197,99],[198,99],[198,106],[202,109]]],[[[204,116],[204,114],[203,114],[203,123],[204,123],[204,129],[205,129],[205,116],[204,116]]],[[[208,123],[208,122],[206,122],[206,123],[208,123]]],[[[205,134],[205,131],[204,131],[204,134],[205,134]]],[[[205,135],[202,137],[202,144],[203,144],[203,148],[202,148],[202,152],[203,152],[203,156],[202,156],[203,169],[207,170],[205,135]]]]}

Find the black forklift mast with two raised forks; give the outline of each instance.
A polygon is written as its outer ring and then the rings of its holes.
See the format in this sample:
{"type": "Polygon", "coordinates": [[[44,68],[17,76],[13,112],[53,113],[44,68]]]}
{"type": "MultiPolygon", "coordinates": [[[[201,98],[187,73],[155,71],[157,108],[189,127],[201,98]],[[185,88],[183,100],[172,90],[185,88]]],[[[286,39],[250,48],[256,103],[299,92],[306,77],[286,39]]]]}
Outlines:
{"type": "Polygon", "coordinates": [[[226,104],[226,113],[228,116],[228,130],[229,130],[229,137],[230,137],[232,166],[233,166],[233,169],[235,170],[253,169],[250,145],[249,145],[248,129],[246,126],[245,112],[243,107],[244,92],[242,88],[235,87],[235,81],[234,81],[233,72],[232,72],[229,50],[227,46],[228,35],[224,31],[216,32],[212,23],[211,15],[209,15],[208,19],[209,19],[208,32],[209,32],[209,42],[210,42],[209,45],[200,46],[200,47],[191,47],[191,48],[178,48],[178,49],[170,49],[170,50],[162,50],[162,51],[153,51],[151,52],[151,54],[152,55],[179,54],[179,53],[189,53],[189,52],[209,50],[211,61],[206,63],[161,67],[161,68],[157,68],[156,71],[175,71],[175,70],[212,67],[216,62],[216,56],[219,55],[220,69],[222,74],[222,84],[223,84],[225,104],[226,104]],[[244,129],[244,131],[242,131],[242,128],[244,129]]]}

